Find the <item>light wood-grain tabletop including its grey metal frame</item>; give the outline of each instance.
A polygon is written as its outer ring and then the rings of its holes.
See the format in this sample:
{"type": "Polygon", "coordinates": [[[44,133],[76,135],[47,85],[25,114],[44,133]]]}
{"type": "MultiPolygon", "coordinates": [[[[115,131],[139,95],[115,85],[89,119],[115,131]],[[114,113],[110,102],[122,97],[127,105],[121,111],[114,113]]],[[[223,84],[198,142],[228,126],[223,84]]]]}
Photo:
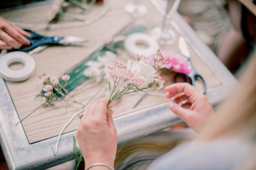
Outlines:
{"type": "MultiPolygon", "coordinates": [[[[72,68],[76,63],[79,63],[99,48],[104,39],[112,37],[130,22],[148,27],[161,24],[162,17],[157,9],[160,12],[162,12],[162,9],[157,4],[153,3],[157,7],[156,9],[150,2],[145,1],[150,13],[145,17],[135,19],[124,11],[126,3],[128,3],[128,0],[125,2],[115,0],[110,11],[89,26],[53,28],[50,30],[34,28],[35,31],[45,35],[87,37],[90,39],[90,43],[78,47],[50,47],[33,54],[36,61],[36,72],[27,81],[6,83],[0,79],[0,87],[2,87],[0,89],[1,146],[10,169],[45,169],[74,159],[72,155],[72,136],[75,133],[74,130],[77,129],[79,119],[74,120],[65,130],[66,134],[61,137],[56,157],[51,146],[54,148],[56,135],[72,114],[80,109],[78,106],[72,105],[69,107],[65,115],[63,114],[65,113],[65,105],[61,103],[54,107],[42,108],[25,119],[22,124],[15,125],[40,104],[40,100],[34,98],[39,92],[38,89],[42,88],[38,83],[38,74],[47,71],[51,75],[61,76],[69,68],[72,68]],[[103,25],[104,27],[102,27],[103,25]],[[94,28],[97,28],[96,31],[94,28]],[[72,59],[70,59],[71,57],[72,59]]],[[[47,8],[49,8],[49,4],[40,6],[40,8],[30,7],[1,13],[0,15],[16,22],[24,22],[29,17],[32,18],[30,18],[32,21],[36,18],[40,20],[42,18],[39,14],[31,16],[29,12],[42,11],[47,8]]],[[[100,7],[95,10],[99,9],[100,7]]],[[[176,34],[186,37],[186,41],[190,44],[191,60],[196,70],[204,76],[207,82],[207,96],[210,102],[214,104],[225,98],[237,84],[234,76],[220,63],[215,54],[198,39],[193,30],[177,13],[173,18],[172,26],[175,28],[176,34]]],[[[177,43],[161,48],[177,52],[177,43]]],[[[126,52],[120,52],[119,55],[122,56],[121,60],[130,59],[126,52]]],[[[171,79],[167,83],[171,83],[171,79]]],[[[90,89],[90,92],[94,92],[99,87],[101,85],[95,85],[94,88],[90,89]]],[[[163,91],[158,92],[164,93],[163,91]]],[[[88,100],[88,94],[89,96],[94,95],[94,93],[83,92],[76,99],[86,101],[88,100]]],[[[114,117],[118,131],[118,143],[164,129],[180,121],[166,108],[167,100],[165,98],[148,96],[135,109],[130,107],[135,104],[140,95],[127,96],[115,106],[114,117]],[[126,104],[127,101],[129,101],[129,105],[126,104]]],[[[97,98],[100,96],[97,96],[97,98]]]]}

